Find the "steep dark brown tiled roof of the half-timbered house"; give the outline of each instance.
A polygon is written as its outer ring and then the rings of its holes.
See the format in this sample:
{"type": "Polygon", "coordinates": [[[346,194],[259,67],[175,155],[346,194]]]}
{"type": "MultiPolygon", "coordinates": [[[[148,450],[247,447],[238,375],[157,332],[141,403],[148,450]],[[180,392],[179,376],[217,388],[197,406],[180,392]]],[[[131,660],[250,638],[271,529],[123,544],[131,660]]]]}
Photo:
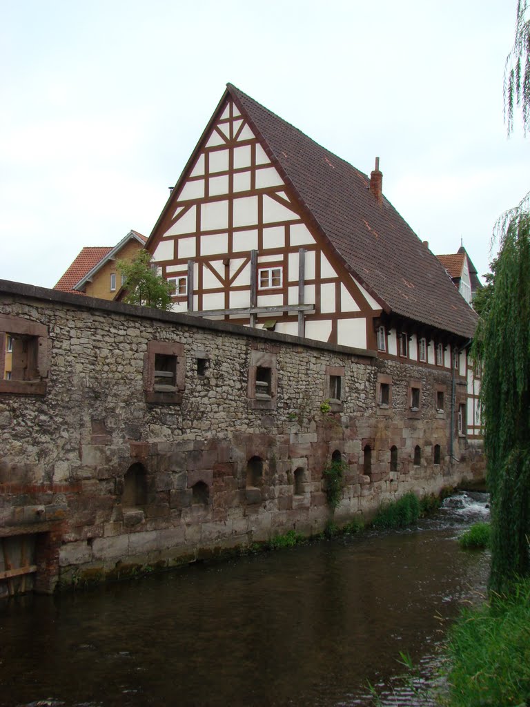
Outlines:
{"type": "Polygon", "coordinates": [[[475,312],[394,206],[377,201],[369,177],[231,83],[227,90],[306,215],[384,310],[471,337],[475,312]]]}

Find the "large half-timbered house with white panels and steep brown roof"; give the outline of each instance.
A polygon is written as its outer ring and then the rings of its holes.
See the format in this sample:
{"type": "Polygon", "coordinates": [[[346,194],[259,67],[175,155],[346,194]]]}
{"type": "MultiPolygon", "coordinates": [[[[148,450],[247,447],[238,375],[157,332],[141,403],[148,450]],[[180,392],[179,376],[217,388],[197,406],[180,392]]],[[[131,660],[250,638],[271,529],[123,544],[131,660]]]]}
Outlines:
{"type": "Polygon", "coordinates": [[[476,314],[370,177],[228,84],[146,244],[174,309],[451,367],[476,314]]]}

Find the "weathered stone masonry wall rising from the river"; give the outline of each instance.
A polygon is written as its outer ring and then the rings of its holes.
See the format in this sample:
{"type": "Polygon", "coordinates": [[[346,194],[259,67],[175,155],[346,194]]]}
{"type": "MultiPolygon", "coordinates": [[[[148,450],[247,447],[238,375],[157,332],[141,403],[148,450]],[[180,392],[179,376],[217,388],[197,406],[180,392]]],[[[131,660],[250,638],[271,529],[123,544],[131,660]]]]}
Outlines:
{"type": "Polygon", "coordinates": [[[39,322],[49,336],[45,395],[0,392],[0,537],[38,534],[37,589],[172,566],[290,529],[318,532],[330,518],[322,472],[337,450],[346,474],[336,522],[481,474],[480,449],[465,438],[454,435],[450,459],[449,371],[80,299],[0,283],[0,315],[39,322]],[[184,346],[177,404],[146,400],[150,341],[184,346]],[[277,380],[264,405],[249,395],[257,352],[277,380]],[[326,370],[342,368],[342,404],[322,412],[326,370]],[[391,377],[388,408],[376,399],[380,375],[391,377]],[[411,380],[421,380],[419,412],[408,404],[411,380]],[[447,391],[443,414],[437,385],[447,391]]]}

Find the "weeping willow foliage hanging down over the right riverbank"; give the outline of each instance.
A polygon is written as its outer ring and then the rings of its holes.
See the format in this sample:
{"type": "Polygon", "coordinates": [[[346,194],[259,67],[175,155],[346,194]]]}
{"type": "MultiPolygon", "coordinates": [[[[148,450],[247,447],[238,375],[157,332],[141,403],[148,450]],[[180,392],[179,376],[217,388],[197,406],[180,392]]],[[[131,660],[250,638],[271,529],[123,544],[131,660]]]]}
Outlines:
{"type": "Polygon", "coordinates": [[[497,224],[500,252],[474,345],[491,493],[490,590],[530,574],[530,213],[497,224]]]}

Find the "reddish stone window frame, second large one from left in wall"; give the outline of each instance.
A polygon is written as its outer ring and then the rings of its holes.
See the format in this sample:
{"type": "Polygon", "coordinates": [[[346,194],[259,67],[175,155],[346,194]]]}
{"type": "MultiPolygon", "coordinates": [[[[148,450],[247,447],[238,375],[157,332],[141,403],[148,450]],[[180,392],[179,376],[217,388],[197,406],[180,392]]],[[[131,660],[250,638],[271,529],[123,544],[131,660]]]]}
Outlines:
{"type": "Polygon", "coordinates": [[[179,405],[184,397],[186,380],[186,357],[184,345],[175,341],[148,341],[147,353],[143,356],[143,392],[146,402],[161,405],[179,405]],[[155,385],[156,356],[172,356],[175,358],[175,385],[171,390],[158,389],[155,385]]]}

